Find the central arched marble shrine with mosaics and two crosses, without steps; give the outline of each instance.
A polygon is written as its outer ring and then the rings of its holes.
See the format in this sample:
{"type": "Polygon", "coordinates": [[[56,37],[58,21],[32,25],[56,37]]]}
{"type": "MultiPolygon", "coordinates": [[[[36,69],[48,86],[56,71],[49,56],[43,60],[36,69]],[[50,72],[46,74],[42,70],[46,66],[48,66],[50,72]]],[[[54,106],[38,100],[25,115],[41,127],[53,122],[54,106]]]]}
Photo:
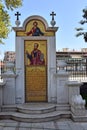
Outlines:
{"type": "MultiPolygon", "coordinates": [[[[19,13],[17,13],[19,14],[19,13]]],[[[16,14],[16,15],[17,15],[16,14]]],[[[38,15],[28,17],[16,33],[16,103],[56,102],[56,31],[38,15]]],[[[17,15],[18,16],[18,15],[17,15]]]]}

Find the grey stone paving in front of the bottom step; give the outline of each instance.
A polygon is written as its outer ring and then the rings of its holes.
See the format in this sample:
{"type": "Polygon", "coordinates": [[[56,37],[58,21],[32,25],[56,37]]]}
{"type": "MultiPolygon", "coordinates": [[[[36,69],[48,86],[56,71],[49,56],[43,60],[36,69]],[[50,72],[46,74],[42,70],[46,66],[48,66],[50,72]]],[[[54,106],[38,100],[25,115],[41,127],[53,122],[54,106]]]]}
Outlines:
{"type": "Polygon", "coordinates": [[[0,120],[0,130],[87,130],[87,122],[76,123],[69,119],[43,123],[0,120]]]}

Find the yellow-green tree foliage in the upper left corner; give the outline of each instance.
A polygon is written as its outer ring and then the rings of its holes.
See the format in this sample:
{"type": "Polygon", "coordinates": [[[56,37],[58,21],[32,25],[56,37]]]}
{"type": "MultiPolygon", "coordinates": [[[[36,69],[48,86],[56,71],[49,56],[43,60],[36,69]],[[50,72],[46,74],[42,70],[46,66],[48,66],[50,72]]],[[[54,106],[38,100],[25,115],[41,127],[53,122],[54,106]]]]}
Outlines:
{"type": "Polygon", "coordinates": [[[3,43],[11,30],[8,10],[14,10],[21,5],[22,0],[0,0],[0,43],[3,43]]]}

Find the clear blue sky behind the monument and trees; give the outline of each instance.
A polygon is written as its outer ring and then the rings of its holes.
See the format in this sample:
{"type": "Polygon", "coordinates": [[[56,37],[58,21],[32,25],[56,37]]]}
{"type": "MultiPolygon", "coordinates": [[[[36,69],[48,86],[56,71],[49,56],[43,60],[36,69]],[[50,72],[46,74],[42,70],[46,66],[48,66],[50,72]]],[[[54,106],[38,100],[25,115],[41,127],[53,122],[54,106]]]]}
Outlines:
{"type": "MultiPolygon", "coordinates": [[[[82,20],[82,10],[87,7],[87,0],[23,0],[22,7],[9,11],[12,27],[15,27],[15,13],[19,11],[21,13],[20,21],[23,25],[24,20],[32,15],[40,15],[46,19],[48,25],[50,25],[51,16],[50,13],[54,11],[56,13],[55,27],[59,27],[56,32],[56,50],[62,50],[62,48],[69,48],[70,50],[80,50],[81,48],[87,48],[83,37],[76,37],[76,27],[82,27],[79,21],[82,20]]],[[[84,26],[86,29],[86,25],[84,26]]],[[[0,53],[2,58],[4,52],[15,51],[15,32],[12,30],[7,39],[4,40],[5,44],[0,45],[0,53]]]]}

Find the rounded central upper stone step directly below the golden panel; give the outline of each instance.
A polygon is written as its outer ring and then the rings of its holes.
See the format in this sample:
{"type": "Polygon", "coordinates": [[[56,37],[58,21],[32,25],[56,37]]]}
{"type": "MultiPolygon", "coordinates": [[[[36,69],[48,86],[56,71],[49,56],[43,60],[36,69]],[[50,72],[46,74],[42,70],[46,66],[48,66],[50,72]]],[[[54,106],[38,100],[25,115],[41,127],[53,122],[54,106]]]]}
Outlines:
{"type": "Polygon", "coordinates": [[[17,111],[21,113],[27,114],[44,114],[53,112],[56,110],[56,106],[54,104],[24,104],[17,106],[17,111]]]}

